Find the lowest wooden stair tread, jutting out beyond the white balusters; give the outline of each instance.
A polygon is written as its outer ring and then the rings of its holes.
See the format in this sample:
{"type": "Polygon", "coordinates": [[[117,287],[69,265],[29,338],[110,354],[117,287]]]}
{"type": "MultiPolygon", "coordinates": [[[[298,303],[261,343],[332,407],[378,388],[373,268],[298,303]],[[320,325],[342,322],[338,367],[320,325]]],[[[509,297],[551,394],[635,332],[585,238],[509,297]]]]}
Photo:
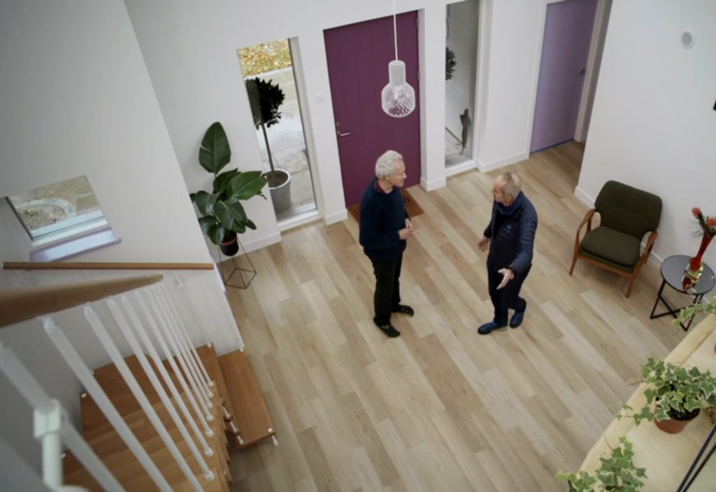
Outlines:
{"type": "Polygon", "coordinates": [[[246,352],[228,352],[218,357],[218,361],[227,382],[226,391],[234,410],[234,421],[243,439],[243,445],[239,447],[246,448],[276,434],[246,352]]]}

